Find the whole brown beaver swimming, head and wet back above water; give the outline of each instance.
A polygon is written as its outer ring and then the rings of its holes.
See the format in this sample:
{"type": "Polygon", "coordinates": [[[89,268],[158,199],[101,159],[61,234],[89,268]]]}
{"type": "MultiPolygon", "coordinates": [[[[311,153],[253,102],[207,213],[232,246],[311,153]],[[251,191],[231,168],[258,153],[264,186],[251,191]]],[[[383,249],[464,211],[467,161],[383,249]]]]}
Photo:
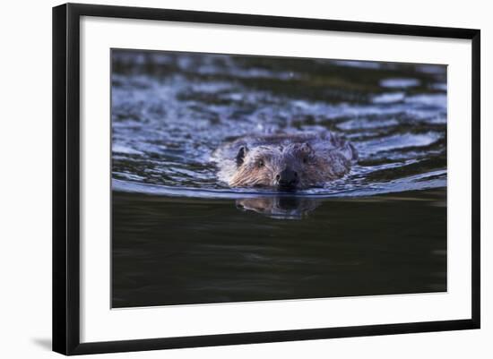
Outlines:
{"type": "Polygon", "coordinates": [[[357,158],[349,141],[328,131],[245,136],[212,154],[219,178],[231,187],[287,191],[341,178],[357,158]]]}

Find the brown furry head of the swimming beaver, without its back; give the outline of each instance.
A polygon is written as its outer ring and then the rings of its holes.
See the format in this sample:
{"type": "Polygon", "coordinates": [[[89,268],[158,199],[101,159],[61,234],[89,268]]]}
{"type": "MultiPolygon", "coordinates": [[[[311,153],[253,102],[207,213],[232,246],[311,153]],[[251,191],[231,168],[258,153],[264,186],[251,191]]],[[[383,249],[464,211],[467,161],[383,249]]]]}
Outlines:
{"type": "Polygon", "coordinates": [[[275,187],[294,190],[314,185],[323,178],[319,160],[308,143],[241,146],[236,171],[229,184],[234,187],[275,187]]]}

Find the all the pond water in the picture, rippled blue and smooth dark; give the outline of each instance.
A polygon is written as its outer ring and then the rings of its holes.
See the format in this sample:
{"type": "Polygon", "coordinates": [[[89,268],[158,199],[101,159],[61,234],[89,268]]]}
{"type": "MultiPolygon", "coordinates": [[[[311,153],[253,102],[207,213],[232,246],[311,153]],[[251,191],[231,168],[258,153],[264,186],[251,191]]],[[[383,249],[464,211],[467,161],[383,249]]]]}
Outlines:
{"type": "Polygon", "coordinates": [[[446,290],[446,66],[112,51],[114,307],[446,290]],[[231,189],[212,151],[330,130],[359,161],[231,189]]]}

